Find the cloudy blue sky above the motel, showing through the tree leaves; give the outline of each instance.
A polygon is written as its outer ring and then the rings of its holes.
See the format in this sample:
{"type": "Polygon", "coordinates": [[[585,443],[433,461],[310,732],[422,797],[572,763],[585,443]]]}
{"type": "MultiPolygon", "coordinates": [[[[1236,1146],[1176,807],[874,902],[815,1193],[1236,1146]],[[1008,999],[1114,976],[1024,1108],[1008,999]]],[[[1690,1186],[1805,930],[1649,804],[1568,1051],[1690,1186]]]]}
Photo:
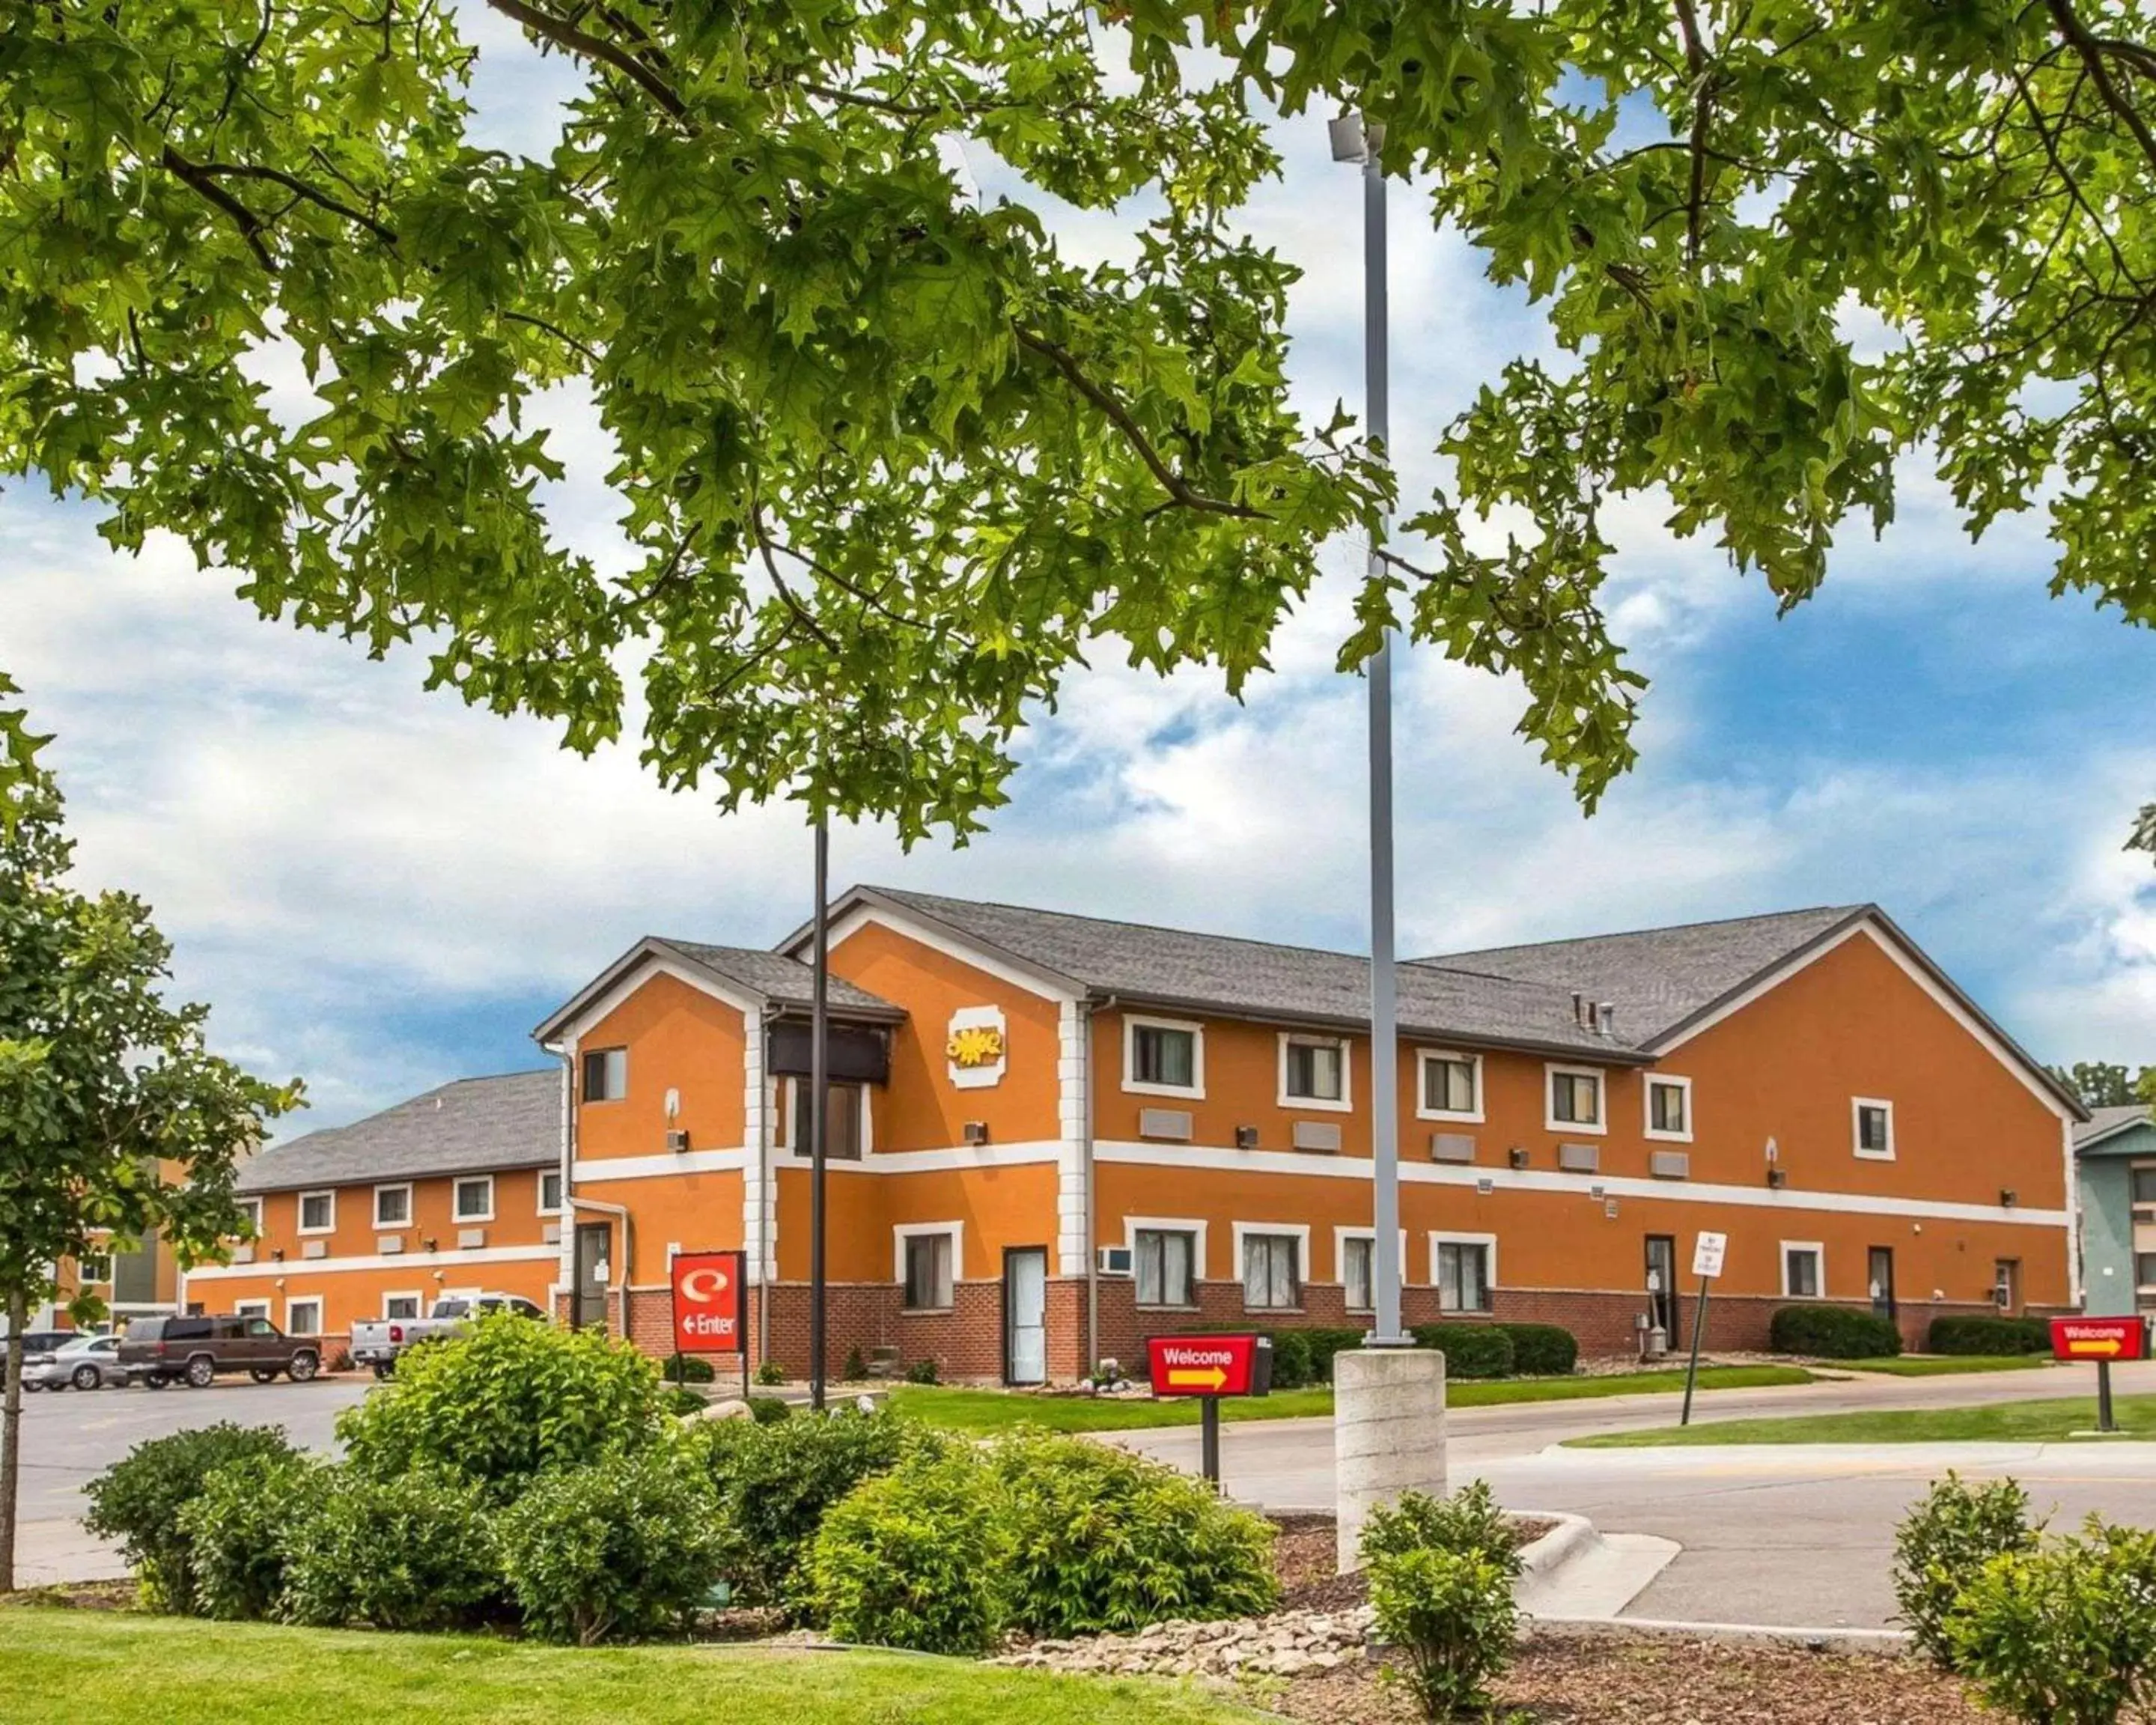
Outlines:
{"type": "MultiPolygon", "coordinates": [[[[483,125],[539,147],[561,67],[492,22],[476,34],[483,125]]],[[[1281,140],[1287,177],[1253,226],[1309,272],[1296,382],[1317,414],[1360,399],[1360,242],[1322,121],[1281,140]]],[[[1393,220],[1412,498],[1449,414],[1548,343],[1412,188],[1393,220]]],[[[1121,244],[1102,218],[1063,231],[1078,252],[1121,244]]],[[[304,399],[289,362],[265,375],[304,399]]],[[[604,556],[604,442],[573,399],[554,423],[571,479],[550,507],[604,556]]],[[[2037,1054],[2156,1059],[2156,871],[2119,852],[2156,796],[2156,636],[2046,597],[2040,520],[1971,548],[1921,461],[1887,539],[1852,537],[1785,619],[1658,515],[1619,513],[1611,591],[1654,677],[1645,759],[1591,822],[1511,735],[1516,688],[1429,653],[1401,666],[1404,949],[1878,899],[2037,1054]]],[[[295,1130],[535,1063],[530,1026],[642,932],[768,942],[806,914],[791,811],[720,819],[634,753],[563,755],[541,724],[423,694],[418,653],[369,664],[261,623],[181,548],[116,558],[93,520],[0,494],[0,666],[58,733],[84,882],[151,899],[226,1052],[308,1082],[295,1130]]],[[[1028,733],[985,839],[906,856],[841,830],[837,878],[1360,942],[1363,684],[1330,671],[1356,563],[1328,556],[1246,703],[1104,664],[1028,733]]]]}

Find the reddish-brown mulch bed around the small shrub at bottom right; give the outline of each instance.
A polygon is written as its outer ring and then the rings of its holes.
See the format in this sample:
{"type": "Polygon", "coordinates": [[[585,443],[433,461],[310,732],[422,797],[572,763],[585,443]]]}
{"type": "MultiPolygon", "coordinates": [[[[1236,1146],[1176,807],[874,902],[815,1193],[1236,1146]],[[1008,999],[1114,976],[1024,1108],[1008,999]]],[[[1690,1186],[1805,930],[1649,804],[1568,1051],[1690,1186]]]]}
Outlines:
{"type": "MultiPolygon", "coordinates": [[[[1492,1686],[1498,1719],[1535,1725],[1996,1725],[1917,1658],[1705,1641],[1535,1641],[1492,1686]]],[[[1259,1706],[1309,1725],[1416,1725],[1373,1667],[1272,1686],[1259,1706]]]]}

